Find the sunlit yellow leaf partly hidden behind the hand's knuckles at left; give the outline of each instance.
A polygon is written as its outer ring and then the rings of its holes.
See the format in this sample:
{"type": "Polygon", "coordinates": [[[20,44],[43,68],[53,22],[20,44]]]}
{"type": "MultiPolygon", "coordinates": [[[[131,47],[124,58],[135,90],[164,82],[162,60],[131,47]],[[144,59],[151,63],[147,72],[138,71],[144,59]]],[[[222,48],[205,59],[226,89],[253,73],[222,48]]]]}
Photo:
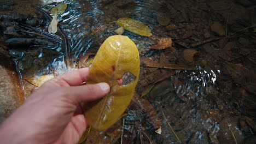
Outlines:
{"type": "Polygon", "coordinates": [[[43,85],[44,82],[53,78],[54,78],[54,75],[41,75],[41,76],[34,76],[34,77],[25,77],[22,79],[30,82],[34,86],[40,87],[43,85]]]}

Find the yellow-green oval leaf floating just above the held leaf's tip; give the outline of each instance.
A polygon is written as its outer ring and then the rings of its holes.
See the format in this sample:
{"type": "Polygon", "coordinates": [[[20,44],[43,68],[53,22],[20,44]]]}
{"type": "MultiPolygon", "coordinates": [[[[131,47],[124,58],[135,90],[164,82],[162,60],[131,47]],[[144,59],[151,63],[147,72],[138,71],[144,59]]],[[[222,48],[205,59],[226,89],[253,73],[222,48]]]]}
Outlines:
{"type": "Polygon", "coordinates": [[[150,37],[152,35],[151,29],[148,26],[144,25],[144,23],[140,21],[133,20],[130,17],[120,18],[117,23],[119,26],[124,27],[127,31],[132,33],[146,37],[150,37]]]}

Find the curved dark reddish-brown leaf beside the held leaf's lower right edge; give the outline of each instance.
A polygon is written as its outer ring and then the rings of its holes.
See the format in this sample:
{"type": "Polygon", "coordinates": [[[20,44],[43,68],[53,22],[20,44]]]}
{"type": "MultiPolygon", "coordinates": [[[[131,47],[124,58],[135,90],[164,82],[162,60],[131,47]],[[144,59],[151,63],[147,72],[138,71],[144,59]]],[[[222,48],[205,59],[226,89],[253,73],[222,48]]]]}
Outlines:
{"type": "Polygon", "coordinates": [[[161,134],[161,119],[158,117],[158,113],[152,104],[150,104],[147,99],[139,97],[137,93],[134,94],[132,101],[135,102],[150,119],[150,122],[155,128],[155,132],[161,134]]]}

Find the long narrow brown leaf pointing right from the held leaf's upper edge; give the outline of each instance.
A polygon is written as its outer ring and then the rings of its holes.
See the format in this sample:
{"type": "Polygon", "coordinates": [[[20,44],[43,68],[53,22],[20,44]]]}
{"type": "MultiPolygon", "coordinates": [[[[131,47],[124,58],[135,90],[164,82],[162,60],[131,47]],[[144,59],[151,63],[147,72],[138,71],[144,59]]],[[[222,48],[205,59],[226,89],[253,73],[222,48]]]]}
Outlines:
{"type": "Polygon", "coordinates": [[[152,68],[178,69],[178,70],[196,70],[196,67],[187,66],[187,65],[172,64],[172,63],[158,63],[158,62],[150,62],[150,61],[143,61],[143,63],[147,67],[152,67],[152,68]]]}

